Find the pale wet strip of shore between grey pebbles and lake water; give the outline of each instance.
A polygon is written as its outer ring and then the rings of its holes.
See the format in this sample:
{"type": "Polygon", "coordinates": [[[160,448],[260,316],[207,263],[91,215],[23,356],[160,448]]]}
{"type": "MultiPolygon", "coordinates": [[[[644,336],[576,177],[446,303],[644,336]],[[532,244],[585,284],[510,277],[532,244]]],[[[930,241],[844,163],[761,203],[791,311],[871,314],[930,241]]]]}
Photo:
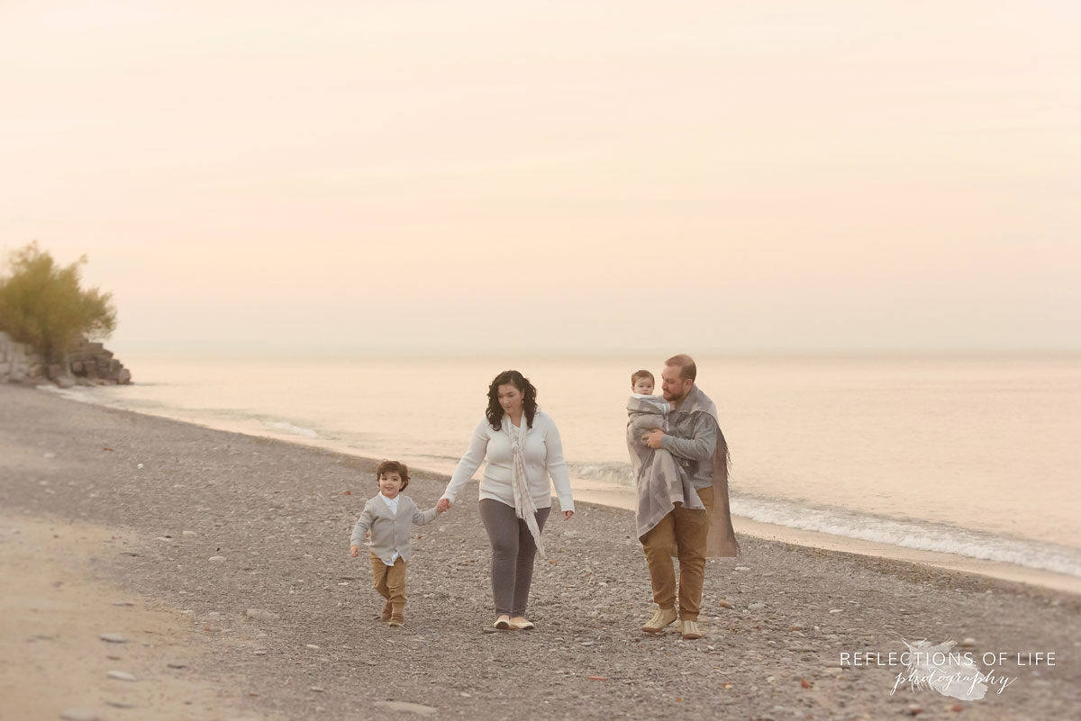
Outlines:
{"type": "MultiPolygon", "coordinates": [[[[198,421],[177,418],[169,413],[155,413],[145,410],[131,410],[129,408],[118,408],[107,404],[95,403],[93,400],[83,400],[78,398],[70,392],[54,390],[49,386],[44,387],[46,392],[55,393],[56,395],[75,403],[84,403],[128,413],[168,419],[171,421],[175,421],[177,423],[187,423],[196,427],[208,428],[212,431],[237,433],[253,438],[268,438],[279,443],[291,444],[301,447],[318,448],[332,453],[339,453],[342,455],[346,455],[349,458],[361,459],[374,463],[378,462],[378,459],[374,459],[371,455],[365,455],[362,452],[350,449],[349,447],[341,443],[326,438],[309,438],[295,433],[276,432],[272,427],[267,427],[264,432],[255,432],[252,428],[248,428],[239,423],[235,424],[222,423],[217,425],[210,425],[205,423],[200,423],[198,421]]],[[[93,389],[82,390],[80,392],[93,392],[93,389]]],[[[414,463],[413,459],[403,459],[403,460],[405,460],[409,463],[411,471],[415,473],[423,474],[426,477],[432,479],[442,480],[444,484],[448,480],[450,480],[450,474],[444,473],[442,471],[432,471],[428,467],[425,467],[421,465],[424,463],[423,461],[417,461],[414,463]]],[[[590,487],[587,481],[587,485],[584,488],[583,487],[575,488],[574,494],[576,501],[583,500],[589,503],[597,503],[599,505],[604,505],[613,508],[633,511],[635,498],[632,490],[629,488],[620,489],[617,487],[608,487],[606,485],[595,485],[593,487],[590,487]]],[[[733,526],[735,527],[736,533],[740,535],[750,535],[762,540],[776,541],[779,543],[788,543],[799,546],[808,546],[823,550],[850,553],[863,556],[870,556],[872,558],[884,558],[906,563],[930,566],[933,568],[960,571],[962,573],[974,573],[978,575],[989,576],[992,579],[998,579],[1001,581],[1024,583],[1081,596],[1081,576],[1072,576],[1065,573],[1056,573],[1054,571],[1036,569],[1027,566],[1009,563],[1005,561],[973,558],[970,556],[962,556],[959,554],[951,554],[937,550],[907,548],[904,546],[897,546],[889,543],[866,541],[853,536],[837,535],[820,531],[810,531],[799,528],[792,528],[789,526],[757,521],[746,516],[739,516],[737,514],[732,515],[732,522],[733,526]]]]}

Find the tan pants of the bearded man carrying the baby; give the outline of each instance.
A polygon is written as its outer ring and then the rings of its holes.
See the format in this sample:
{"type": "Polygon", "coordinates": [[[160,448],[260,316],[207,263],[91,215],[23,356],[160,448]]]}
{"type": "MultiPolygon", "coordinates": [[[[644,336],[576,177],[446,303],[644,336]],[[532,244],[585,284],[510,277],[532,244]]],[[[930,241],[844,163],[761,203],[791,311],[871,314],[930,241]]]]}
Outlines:
{"type": "Polygon", "coordinates": [[[683,621],[697,621],[702,607],[706,534],[709,532],[709,512],[713,508],[713,489],[699,490],[698,498],[706,511],[678,505],[645,534],[642,542],[653,584],[653,601],[662,609],[676,608],[673,552],[679,557],[679,616],[683,621]]]}

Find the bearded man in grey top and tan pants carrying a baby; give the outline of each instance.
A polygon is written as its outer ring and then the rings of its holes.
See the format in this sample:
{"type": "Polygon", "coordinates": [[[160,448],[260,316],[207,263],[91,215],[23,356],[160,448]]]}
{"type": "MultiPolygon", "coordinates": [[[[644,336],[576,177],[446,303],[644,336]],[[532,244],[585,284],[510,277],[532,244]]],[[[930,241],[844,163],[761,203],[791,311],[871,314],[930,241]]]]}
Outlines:
{"type": "MultiPolygon", "coordinates": [[[[729,512],[728,444],[717,420],[717,406],[694,384],[696,376],[689,355],[665,360],[660,391],[673,406],[670,434],[655,428],[642,436],[650,448],[664,448],[676,458],[705,506],[705,511],[697,511],[676,505],[642,541],[657,604],[642,630],[659,634],[678,617],[684,639],[702,638],[697,622],[706,558],[735,556],[739,550],[729,512]],[[678,613],[673,555],[679,558],[678,613]]],[[[686,505],[692,505],[690,500],[686,505]]]]}

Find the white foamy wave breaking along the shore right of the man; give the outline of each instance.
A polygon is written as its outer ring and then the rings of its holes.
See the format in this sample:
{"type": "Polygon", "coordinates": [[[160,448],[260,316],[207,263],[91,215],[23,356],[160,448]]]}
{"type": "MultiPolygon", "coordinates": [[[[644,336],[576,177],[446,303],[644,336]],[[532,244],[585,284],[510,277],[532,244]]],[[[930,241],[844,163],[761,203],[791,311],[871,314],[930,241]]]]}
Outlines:
{"type": "Polygon", "coordinates": [[[1065,546],[989,535],[939,523],[904,521],[839,508],[816,508],[789,501],[735,494],[732,496],[732,513],[763,523],[804,531],[1081,576],[1081,555],[1065,546]]]}

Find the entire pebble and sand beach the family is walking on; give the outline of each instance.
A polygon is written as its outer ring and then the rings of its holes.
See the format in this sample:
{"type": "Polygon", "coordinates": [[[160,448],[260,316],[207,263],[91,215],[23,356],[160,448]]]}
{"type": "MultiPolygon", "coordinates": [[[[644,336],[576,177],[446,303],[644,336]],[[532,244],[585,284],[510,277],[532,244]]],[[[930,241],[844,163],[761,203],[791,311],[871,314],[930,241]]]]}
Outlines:
{"type": "MultiPolygon", "coordinates": [[[[0,387],[0,611],[12,618],[0,719],[75,707],[107,720],[1052,719],[1081,706],[1081,597],[744,536],[742,558],[707,569],[707,637],[646,636],[632,517],[588,503],[545,532],[537,629],[486,632],[475,490],[416,529],[406,625],[388,628],[366,559],[348,557],[372,467],[0,387]],[[907,684],[891,694],[904,667],[851,663],[888,663],[922,638],[971,638],[977,662],[1005,654],[993,670],[1012,683],[972,702],[907,684]],[[1017,652],[1055,665],[1019,665],[1017,652]],[[106,678],[115,664],[137,680],[106,678]]],[[[406,493],[428,507],[445,479],[417,476],[406,493]]]]}

